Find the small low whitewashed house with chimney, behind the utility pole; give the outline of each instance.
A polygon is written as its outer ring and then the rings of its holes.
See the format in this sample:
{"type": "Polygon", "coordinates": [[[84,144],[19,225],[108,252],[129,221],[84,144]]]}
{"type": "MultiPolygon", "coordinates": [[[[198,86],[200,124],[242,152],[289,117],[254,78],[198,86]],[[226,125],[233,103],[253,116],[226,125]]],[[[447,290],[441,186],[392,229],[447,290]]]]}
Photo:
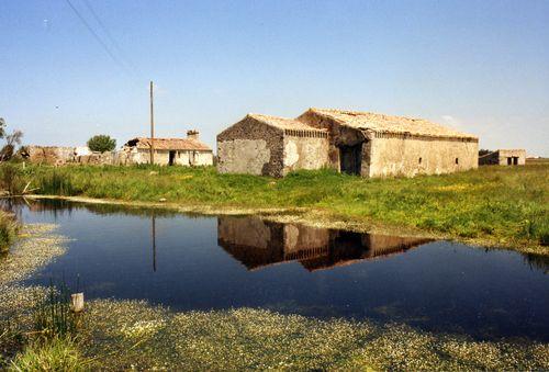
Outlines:
{"type": "MultiPolygon", "coordinates": [[[[119,164],[149,164],[150,138],[130,139],[117,154],[119,164]]],[[[155,138],[154,160],[160,166],[212,166],[212,149],[200,142],[197,131],[187,132],[187,138],[155,138]]]]}

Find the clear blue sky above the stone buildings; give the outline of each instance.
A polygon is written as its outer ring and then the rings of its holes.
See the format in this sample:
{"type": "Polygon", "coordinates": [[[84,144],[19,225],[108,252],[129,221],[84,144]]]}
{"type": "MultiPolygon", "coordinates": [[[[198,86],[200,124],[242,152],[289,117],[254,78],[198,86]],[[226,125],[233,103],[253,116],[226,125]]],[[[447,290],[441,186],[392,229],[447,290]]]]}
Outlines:
{"type": "Polygon", "coordinates": [[[146,135],[154,80],[158,136],[318,106],[549,156],[549,1],[87,1],[114,58],[67,0],[0,0],[0,116],[26,144],[146,135]]]}

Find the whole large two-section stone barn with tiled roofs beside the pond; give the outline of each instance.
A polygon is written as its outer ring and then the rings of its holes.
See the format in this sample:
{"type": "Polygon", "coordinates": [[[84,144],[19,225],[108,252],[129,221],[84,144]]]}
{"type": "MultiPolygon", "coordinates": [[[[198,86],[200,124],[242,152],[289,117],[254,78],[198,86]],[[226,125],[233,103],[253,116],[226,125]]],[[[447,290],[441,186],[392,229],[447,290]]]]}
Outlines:
{"type": "Polygon", "coordinates": [[[362,177],[440,174],[477,168],[478,143],[421,119],[325,109],[294,120],[250,114],[217,135],[217,167],[273,177],[322,167],[362,177]]]}

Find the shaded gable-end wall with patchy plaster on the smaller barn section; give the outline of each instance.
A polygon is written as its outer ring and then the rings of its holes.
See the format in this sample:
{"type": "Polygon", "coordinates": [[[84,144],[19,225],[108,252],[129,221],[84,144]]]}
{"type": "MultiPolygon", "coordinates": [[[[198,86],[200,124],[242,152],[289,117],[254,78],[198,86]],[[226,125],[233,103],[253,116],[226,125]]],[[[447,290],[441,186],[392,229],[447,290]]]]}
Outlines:
{"type": "Polygon", "coordinates": [[[283,176],[283,131],[245,117],[217,135],[217,170],[283,176]]]}

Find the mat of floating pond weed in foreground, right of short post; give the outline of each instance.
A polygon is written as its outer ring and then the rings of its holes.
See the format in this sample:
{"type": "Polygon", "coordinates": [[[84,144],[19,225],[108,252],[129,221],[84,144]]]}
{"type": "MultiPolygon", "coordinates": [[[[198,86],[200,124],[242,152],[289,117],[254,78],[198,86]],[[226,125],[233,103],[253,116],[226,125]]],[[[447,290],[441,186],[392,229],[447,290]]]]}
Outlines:
{"type": "Polygon", "coordinates": [[[101,369],[549,369],[548,345],[475,341],[402,324],[251,308],[171,313],[136,301],[93,301],[88,309],[82,332],[101,369]]]}

